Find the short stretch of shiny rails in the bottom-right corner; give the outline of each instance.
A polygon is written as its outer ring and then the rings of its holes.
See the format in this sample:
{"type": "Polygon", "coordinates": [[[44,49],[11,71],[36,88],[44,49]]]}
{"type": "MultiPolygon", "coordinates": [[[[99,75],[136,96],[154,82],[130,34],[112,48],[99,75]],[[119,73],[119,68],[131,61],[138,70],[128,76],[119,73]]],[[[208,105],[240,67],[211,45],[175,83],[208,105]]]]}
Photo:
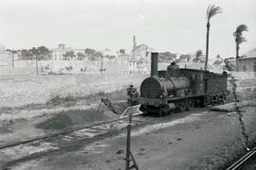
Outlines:
{"type": "Polygon", "coordinates": [[[256,147],[254,147],[251,151],[247,152],[240,160],[235,161],[227,170],[238,170],[243,169],[244,166],[247,165],[248,161],[255,159],[256,157],[256,147]]]}

